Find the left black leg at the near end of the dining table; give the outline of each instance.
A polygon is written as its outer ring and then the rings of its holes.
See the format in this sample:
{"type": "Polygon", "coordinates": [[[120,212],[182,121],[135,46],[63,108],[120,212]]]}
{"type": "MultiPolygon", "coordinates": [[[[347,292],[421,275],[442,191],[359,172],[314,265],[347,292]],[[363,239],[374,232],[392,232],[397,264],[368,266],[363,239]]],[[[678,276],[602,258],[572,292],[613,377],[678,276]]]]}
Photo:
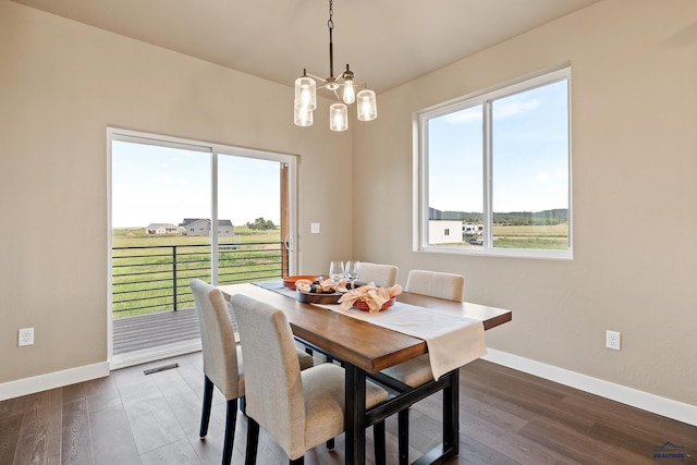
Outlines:
{"type": "Polygon", "coordinates": [[[366,372],[344,364],[345,408],[344,428],[346,430],[346,465],[366,463],[366,372]]]}

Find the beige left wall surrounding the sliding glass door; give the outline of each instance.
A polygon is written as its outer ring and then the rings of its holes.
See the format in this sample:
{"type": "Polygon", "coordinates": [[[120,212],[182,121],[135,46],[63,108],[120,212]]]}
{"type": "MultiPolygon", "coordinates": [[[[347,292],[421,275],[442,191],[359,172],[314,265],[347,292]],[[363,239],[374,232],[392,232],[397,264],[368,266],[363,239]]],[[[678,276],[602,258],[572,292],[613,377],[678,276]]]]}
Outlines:
{"type": "MultiPolygon", "coordinates": [[[[0,0],[0,383],[107,359],[107,126],[298,155],[301,271],[351,256],[350,134],[293,89],[0,0]],[[322,120],[319,115],[317,120],[322,120]],[[308,182],[311,180],[311,182],[308,182]],[[321,234],[309,234],[309,222],[321,234]],[[35,345],[17,347],[34,327],[35,345]]],[[[321,107],[320,107],[321,110],[321,107]]]]}

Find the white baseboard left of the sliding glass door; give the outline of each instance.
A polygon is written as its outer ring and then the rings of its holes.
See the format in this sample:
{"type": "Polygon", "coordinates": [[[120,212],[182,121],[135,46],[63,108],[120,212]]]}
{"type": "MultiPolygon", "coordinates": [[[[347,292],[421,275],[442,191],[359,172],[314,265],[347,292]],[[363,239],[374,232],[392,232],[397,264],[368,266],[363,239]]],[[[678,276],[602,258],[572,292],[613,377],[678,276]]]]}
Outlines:
{"type": "Polygon", "coordinates": [[[90,379],[103,378],[106,376],[109,376],[109,363],[100,362],[94,365],[85,365],[32,378],[17,379],[16,381],[3,382],[0,384],[0,401],[34,394],[49,389],[62,388],[63,386],[88,381],[90,379]]]}

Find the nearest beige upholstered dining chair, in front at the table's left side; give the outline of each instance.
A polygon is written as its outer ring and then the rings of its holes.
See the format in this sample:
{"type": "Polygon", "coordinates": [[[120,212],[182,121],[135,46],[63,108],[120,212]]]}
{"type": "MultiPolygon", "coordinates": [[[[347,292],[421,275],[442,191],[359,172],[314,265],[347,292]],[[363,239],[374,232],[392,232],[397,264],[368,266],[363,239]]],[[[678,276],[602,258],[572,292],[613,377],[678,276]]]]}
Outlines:
{"type": "MultiPolygon", "coordinates": [[[[344,370],[320,364],[301,371],[285,314],[264,302],[236,294],[231,298],[245,360],[247,452],[256,463],[259,427],[285,451],[290,464],[303,464],[305,452],[344,431],[344,370]]],[[[367,381],[366,408],[388,399],[367,381]]],[[[374,427],[376,463],[384,463],[384,423],[374,427]]]]}

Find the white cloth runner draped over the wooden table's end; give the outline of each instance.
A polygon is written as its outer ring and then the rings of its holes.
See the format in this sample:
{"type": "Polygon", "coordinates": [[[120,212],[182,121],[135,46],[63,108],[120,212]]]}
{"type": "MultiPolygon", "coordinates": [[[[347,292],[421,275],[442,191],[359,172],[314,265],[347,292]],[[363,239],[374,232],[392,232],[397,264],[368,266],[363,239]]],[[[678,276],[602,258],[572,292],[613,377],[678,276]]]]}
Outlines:
{"type": "Polygon", "coordinates": [[[339,310],[339,305],[314,305],[423,339],[428,346],[433,379],[487,353],[484,323],[474,318],[401,302],[372,314],[355,308],[342,311],[339,310]]]}

